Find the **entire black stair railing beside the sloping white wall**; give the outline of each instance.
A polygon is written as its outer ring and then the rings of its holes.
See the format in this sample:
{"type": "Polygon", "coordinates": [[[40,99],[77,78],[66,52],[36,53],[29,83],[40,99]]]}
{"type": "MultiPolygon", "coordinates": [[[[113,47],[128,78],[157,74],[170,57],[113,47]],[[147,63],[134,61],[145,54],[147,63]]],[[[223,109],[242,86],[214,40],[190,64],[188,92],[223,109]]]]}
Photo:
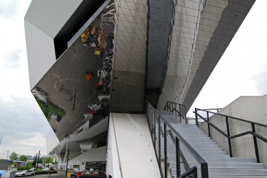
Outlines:
{"type": "Polygon", "coordinates": [[[168,151],[167,151],[167,135],[170,135],[170,133],[173,134],[175,138],[175,162],[176,162],[176,177],[181,177],[181,163],[183,163],[183,159],[186,160],[189,166],[189,170],[185,168],[185,174],[183,174],[183,177],[188,177],[189,175],[192,175],[193,177],[196,176],[196,171],[198,168],[200,168],[200,171],[198,175],[201,175],[201,177],[208,178],[208,164],[207,162],[190,146],[190,144],[170,125],[170,123],[157,112],[150,103],[147,102],[146,105],[146,118],[148,120],[148,125],[150,129],[150,134],[152,138],[152,143],[154,146],[154,151],[156,154],[156,160],[159,165],[159,170],[161,173],[162,178],[167,178],[168,172],[167,168],[168,166],[168,159],[170,160],[171,157],[167,157],[168,151]],[[161,124],[163,124],[163,135],[161,132],[161,124]],[[156,133],[156,130],[158,133],[156,133]],[[168,134],[169,133],[169,134],[168,134]],[[163,139],[163,141],[161,140],[163,139]],[[161,143],[163,142],[163,148],[164,148],[164,155],[163,159],[161,159],[161,143]],[[181,154],[183,153],[183,154],[181,154]],[[184,157],[184,158],[183,158],[184,157]],[[182,161],[181,162],[181,159],[182,161]],[[195,167],[196,168],[195,168],[195,167]]]}

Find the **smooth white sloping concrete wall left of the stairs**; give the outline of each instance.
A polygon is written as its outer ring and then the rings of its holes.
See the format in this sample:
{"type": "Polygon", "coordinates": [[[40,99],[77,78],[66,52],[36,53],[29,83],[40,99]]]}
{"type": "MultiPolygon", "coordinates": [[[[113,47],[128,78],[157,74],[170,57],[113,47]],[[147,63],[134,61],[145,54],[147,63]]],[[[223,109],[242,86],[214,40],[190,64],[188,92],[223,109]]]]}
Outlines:
{"type": "Polygon", "coordinates": [[[113,113],[110,118],[113,119],[121,177],[160,178],[146,116],[113,113]]]}

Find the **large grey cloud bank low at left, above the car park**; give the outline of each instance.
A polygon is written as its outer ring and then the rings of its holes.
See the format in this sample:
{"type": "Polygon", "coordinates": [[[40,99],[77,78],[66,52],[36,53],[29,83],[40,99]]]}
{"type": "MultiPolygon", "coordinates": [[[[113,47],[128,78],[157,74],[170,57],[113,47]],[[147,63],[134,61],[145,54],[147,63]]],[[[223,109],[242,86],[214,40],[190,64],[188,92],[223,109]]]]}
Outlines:
{"type": "Polygon", "coordinates": [[[45,137],[51,127],[34,97],[0,97],[0,113],[1,149],[25,155],[46,153],[45,137]]]}

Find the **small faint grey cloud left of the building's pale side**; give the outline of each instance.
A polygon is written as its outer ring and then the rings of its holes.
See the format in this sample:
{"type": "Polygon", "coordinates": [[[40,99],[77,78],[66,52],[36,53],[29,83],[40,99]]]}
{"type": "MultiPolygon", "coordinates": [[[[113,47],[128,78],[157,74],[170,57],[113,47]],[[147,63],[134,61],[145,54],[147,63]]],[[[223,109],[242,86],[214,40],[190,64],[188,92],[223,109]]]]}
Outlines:
{"type": "Polygon", "coordinates": [[[19,68],[21,66],[19,55],[21,55],[23,49],[14,49],[10,53],[3,56],[4,68],[19,68]]]}

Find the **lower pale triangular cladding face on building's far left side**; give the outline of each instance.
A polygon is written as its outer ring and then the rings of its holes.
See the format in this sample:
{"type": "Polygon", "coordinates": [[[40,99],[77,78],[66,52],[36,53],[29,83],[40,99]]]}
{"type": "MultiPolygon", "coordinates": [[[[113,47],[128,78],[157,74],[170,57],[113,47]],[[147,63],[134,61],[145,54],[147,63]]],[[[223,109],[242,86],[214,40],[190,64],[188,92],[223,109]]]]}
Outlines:
{"type": "Polygon", "coordinates": [[[56,62],[56,55],[53,38],[28,21],[24,21],[24,24],[30,88],[32,89],[56,62]]]}

